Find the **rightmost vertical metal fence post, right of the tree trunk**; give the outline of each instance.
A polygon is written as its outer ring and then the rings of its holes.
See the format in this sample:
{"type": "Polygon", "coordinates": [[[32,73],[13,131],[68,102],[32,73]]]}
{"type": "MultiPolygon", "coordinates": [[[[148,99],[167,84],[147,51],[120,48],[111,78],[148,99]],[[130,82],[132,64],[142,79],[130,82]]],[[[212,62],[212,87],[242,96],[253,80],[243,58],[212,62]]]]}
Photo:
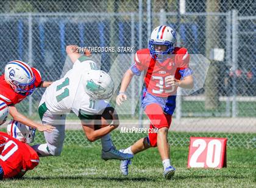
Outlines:
{"type": "Polygon", "coordinates": [[[237,69],[237,13],[232,10],[232,71],[233,71],[233,99],[232,118],[236,117],[236,69],[237,69]]]}

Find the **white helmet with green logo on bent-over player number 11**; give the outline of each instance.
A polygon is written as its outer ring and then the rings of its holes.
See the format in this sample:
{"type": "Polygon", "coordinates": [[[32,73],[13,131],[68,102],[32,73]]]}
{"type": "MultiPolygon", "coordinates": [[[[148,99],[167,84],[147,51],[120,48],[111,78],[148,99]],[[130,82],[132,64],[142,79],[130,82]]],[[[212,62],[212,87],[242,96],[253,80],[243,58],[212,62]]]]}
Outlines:
{"type": "Polygon", "coordinates": [[[85,73],[84,87],[85,92],[96,100],[108,99],[113,95],[115,84],[103,70],[91,70],[85,73]]]}

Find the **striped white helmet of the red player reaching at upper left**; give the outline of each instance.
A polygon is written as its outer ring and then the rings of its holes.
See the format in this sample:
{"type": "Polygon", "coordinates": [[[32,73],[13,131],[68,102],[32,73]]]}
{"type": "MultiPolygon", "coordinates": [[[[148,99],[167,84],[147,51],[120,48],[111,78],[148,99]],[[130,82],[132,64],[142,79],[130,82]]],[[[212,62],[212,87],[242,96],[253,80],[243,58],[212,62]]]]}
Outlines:
{"type": "Polygon", "coordinates": [[[35,89],[35,75],[26,62],[10,61],[5,65],[4,78],[16,93],[31,95],[35,89]]]}

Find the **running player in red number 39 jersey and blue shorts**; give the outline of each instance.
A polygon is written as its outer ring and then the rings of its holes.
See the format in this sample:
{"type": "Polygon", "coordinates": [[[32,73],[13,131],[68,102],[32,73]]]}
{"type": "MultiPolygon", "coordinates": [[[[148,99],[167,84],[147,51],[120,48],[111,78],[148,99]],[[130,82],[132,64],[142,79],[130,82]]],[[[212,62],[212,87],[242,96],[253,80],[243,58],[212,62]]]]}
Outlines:
{"type": "MultiPolygon", "coordinates": [[[[149,135],[124,149],[124,153],[135,155],[150,147],[158,147],[166,179],[175,172],[171,166],[168,145],[168,129],[176,107],[177,87],[193,88],[192,70],[188,66],[190,55],[187,49],[176,47],[176,32],[169,26],[160,25],[151,34],[148,49],[138,50],[135,64],[124,75],[116,103],[121,105],[127,99],[126,89],[133,75],[144,72],[144,95],[142,107],[151,124],[149,135]],[[155,133],[152,129],[158,129],[155,133]]],[[[130,160],[121,161],[121,171],[128,174],[130,160]]]]}

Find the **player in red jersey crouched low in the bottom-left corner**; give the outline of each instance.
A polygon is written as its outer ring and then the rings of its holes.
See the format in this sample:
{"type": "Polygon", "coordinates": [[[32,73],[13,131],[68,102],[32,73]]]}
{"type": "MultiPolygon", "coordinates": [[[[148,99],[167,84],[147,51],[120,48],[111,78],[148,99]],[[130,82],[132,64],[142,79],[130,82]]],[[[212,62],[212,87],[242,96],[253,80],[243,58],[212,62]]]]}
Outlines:
{"type": "Polygon", "coordinates": [[[29,128],[24,127],[27,126],[19,124],[19,127],[16,127],[16,139],[0,132],[0,180],[21,178],[27,170],[34,169],[39,163],[37,152],[25,143],[32,140],[32,134],[29,133],[29,128]],[[27,138],[23,135],[27,135],[27,138]]]}

